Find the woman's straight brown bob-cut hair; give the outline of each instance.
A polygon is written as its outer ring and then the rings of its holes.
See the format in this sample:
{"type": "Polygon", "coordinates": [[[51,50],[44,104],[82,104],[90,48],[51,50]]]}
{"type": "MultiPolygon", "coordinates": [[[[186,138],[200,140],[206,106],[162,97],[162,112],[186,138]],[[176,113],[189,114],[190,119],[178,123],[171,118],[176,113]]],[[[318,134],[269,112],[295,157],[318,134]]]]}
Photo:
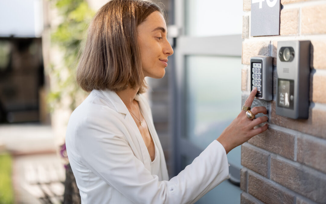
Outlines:
{"type": "Polygon", "coordinates": [[[111,0],[95,14],[77,66],[77,83],[85,91],[147,89],[141,67],[137,26],[157,4],[141,0],[111,0]]]}

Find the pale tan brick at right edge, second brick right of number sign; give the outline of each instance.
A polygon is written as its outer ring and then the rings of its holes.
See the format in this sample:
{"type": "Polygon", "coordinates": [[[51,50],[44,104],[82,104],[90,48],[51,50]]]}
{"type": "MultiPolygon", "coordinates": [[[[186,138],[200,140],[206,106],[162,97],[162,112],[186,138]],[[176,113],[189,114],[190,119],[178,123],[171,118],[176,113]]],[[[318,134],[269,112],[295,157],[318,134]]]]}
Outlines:
{"type": "Polygon", "coordinates": [[[326,4],[301,9],[301,34],[326,33],[326,4]]]}

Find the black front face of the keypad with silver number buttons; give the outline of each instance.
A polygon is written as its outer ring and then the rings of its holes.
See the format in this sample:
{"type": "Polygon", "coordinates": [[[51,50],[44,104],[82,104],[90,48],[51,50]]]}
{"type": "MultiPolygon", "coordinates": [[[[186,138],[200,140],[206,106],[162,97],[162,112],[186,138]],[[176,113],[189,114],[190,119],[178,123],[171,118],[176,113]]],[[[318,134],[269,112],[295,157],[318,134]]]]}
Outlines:
{"type": "Polygon", "coordinates": [[[251,90],[257,87],[257,97],[262,97],[262,63],[252,62],[251,66],[251,90]]]}

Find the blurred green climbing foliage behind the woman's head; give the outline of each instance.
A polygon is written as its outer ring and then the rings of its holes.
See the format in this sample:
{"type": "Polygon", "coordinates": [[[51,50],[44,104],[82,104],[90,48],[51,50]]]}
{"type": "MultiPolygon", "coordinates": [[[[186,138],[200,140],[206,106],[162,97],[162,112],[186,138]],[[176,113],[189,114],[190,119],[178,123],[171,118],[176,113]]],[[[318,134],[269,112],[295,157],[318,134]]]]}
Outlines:
{"type": "Polygon", "coordinates": [[[71,98],[70,109],[76,108],[76,94],[85,93],[78,87],[75,69],[82,40],[86,37],[87,27],[95,12],[85,0],[52,0],[63,21],[51,35],[52,43],[59,45],[64,53],[64,66],[51,69],[56,77],[59,90],[53,90],[48,95],[51,109],[60,106],[63,96],[71,98]],[[65,76],[63,76],[63,73],[65,76]]]}

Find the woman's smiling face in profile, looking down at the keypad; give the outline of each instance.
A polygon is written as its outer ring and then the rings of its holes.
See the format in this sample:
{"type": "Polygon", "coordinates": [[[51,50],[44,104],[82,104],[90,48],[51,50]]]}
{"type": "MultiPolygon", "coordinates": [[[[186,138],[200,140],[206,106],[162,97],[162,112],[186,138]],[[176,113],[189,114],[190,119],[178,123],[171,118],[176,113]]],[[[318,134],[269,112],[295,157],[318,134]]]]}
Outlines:
{"type": "Polygon", "coordinates": [[[145,76],[162,78],[168,66],[168,56],[173,49],[167,39],[167,27],[163,15],[155,11],[137,27],[141,52],[141,65],[145,76]]]}

